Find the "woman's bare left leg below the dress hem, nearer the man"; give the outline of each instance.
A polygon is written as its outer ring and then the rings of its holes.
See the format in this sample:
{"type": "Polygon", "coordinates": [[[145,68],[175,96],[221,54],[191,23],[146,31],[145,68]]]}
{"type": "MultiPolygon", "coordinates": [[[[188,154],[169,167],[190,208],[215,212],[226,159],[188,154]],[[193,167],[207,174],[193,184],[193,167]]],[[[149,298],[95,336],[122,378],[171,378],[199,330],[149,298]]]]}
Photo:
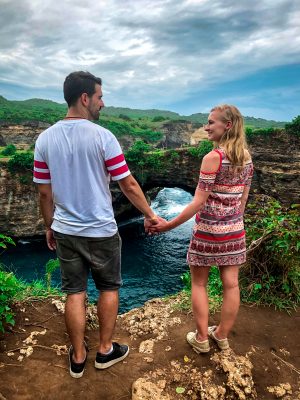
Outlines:
{"type": "Polygon", "coordinates": [[[192,309],[199,342],[207,339],[208,297],[206,285],[210,267],[190,267],[192,277],[192,309]]]}

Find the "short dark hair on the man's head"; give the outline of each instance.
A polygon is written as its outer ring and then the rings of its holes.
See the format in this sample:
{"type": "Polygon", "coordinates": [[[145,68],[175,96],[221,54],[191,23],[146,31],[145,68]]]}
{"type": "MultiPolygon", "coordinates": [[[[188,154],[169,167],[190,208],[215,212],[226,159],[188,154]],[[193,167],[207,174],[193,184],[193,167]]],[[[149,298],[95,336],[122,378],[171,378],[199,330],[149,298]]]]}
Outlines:
{"type": "Polygon", "coordinates": [[[93,96],[96,83],[102,85],[102,79],[90,72],[76,71],[68,75],[64,81],[64,98],[68,107],[74,106],[82,93],[93,96]]]}

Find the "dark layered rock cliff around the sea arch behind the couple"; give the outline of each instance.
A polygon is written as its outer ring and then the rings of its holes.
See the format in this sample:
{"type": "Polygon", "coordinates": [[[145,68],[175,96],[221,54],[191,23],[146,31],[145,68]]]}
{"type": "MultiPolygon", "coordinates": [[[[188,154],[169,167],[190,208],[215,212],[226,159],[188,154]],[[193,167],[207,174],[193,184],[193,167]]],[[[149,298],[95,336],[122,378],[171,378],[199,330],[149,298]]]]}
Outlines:
{"type": "MultiPolygon", "coordinates": [[[[282,132],[257,136],[250,146],[255,166],[252,191],[268,194],[287,205],[299,203],[299,144],[298,137],[282,132]]],[[[155,187],[180,187],[190,193],[195,191],[199,167],[200,160],[187,149],[179,149],[174,159],[166,152],[162,167],[155,170],[141,170],[130,165],[144,191],[155,187]]],[[[128,201],[117,185],[112,189],[116,216],[128,215],[128,201]]],[[[4,162],[0,163],[0,232],[20,237],[44,232],[35,185],[30,178],[29,183],[20,183],[20,177],[12,176],[4,162]]]]}

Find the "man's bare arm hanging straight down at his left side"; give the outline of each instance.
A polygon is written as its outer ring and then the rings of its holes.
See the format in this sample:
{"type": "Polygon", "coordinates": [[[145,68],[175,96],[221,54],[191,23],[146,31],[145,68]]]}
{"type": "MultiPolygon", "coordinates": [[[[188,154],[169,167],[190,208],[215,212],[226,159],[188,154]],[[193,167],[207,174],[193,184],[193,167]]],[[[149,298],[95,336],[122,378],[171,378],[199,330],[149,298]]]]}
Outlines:
{"type": "Polygon", "coordinates": [[[41,213],[46,227],[46,240],[50,250],[56,249],[51,224],[53,221],[54,204],[51,183],[38,184],[41,213]]]}

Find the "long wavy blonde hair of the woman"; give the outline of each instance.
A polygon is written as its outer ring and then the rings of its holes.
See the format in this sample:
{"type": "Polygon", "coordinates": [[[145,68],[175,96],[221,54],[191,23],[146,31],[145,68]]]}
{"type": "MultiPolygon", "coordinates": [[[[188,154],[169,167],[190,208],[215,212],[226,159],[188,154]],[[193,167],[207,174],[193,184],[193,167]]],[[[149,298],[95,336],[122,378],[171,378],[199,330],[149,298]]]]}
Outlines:
{"type": "Polygon", "coordinates": [[[246,135],[244,131],[244,120],[240,111],[235,107],[228,104],[222,104],[211,109],[211,112],[219,111],[219,119],[226,123],[231,122],[231,128],[227,129],[222,136],[219,146],[222,147],[226,153],[227,158],[232,166],[240,169],[245,165],[249,159],[246,135]]]}

